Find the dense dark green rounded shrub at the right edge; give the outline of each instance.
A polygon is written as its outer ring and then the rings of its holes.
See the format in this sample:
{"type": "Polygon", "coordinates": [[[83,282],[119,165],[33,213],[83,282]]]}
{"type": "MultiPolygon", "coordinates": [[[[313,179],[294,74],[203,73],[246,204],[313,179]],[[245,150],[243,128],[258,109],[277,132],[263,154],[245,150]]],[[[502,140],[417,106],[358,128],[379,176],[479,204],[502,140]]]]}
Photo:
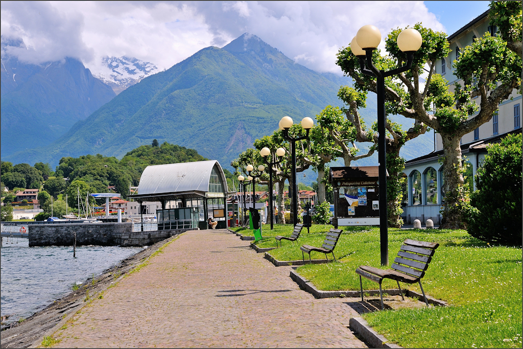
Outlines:
{"type": "Polygon", "coordinates": [[[487,147],[471,196],[477,210],[468,222],[477,239],[521,246],[521,145],[520,133],[487,147]]]}

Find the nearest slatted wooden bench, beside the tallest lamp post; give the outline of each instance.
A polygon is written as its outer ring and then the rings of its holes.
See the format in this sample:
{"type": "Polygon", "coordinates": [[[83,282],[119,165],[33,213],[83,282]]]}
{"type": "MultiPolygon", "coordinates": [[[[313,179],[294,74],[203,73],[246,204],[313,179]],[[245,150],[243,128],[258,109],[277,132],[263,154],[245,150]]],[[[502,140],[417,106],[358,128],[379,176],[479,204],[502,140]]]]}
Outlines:
{"type": "Polygon", "coordinates": [[[419,284],[422,289],[423,298],[428,307],[427,297],[423,290],[420,279],[425,275],[428,264],[432,260],[435,250],[439,244],[435,242],[416,241],[406,239],[400,247],[400,252],[394,259],[391,269],[382,270],[368,265],[360,265],[356,269],[356,274],[360,276],[361,301],[363,301],[363,285],[361,284],[361,277],[365,277],[380,285],[380,301],[381,309],[383,310],[383,294],[381,292],[381,282],[383,279],[396,280],[397,287],[400,289],[400,295],[403,300],[403,292],[400,287],[400,281],[406,284],[419,284]]]}

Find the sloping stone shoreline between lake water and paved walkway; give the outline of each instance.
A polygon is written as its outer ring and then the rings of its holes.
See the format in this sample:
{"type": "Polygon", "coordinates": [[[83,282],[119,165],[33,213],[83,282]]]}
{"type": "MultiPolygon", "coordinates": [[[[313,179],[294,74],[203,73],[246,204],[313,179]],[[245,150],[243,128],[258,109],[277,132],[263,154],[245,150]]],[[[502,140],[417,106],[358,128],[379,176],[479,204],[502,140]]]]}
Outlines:
{"type": "Polygon", "coordinates": [[[146,258],[158,251],[164,244],[176,239],[174,235],[168,239],[157,242],[137,252],[120,263],[106,269],[98,277],[87,278],[83,287],[71,290],[53,301],[42,310],[32,314],[26,320],[16,323],[12,328],[0,332],[1,348],[27,348],[37,347],[42,343],[43,337],[53,334],[74,314],[89,304],[89,300],[97,298],[100,292],[105,291],[111,284],[118,283],[135,266],[140,265],[146,258]]]}

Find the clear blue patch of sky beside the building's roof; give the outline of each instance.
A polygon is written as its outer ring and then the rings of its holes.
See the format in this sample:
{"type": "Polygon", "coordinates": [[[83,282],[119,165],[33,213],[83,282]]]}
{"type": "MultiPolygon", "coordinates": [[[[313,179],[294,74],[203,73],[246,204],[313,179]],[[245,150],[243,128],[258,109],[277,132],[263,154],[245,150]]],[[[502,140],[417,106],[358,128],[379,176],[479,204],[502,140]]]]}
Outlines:
{"type": "Polygon", "coordinates": [[[450,36],[488,9],[488,1],[425,1],[450,36]]]}

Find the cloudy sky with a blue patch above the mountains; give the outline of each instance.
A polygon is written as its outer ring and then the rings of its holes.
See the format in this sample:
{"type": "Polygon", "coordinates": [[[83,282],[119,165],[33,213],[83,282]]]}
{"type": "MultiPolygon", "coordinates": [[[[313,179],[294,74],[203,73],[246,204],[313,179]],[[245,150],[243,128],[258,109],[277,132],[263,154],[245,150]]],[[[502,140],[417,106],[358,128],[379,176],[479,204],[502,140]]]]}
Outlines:
{"type": "Polygon", "coordinates": [[[73,57],[93,74],[103,70],[106,56],[135,57],[169,69],[244,32],[309,69],[341,74],[336,53],[363,25],[377,26],[382,38],[392,28],[417,22],[450,35],[487,9],[487,1],[2,1],[0,31],[2,57],[16,55],[33,64],[73,57]],[[6,47],[12,39],[23,40],[25,47],[6,47]]]}

